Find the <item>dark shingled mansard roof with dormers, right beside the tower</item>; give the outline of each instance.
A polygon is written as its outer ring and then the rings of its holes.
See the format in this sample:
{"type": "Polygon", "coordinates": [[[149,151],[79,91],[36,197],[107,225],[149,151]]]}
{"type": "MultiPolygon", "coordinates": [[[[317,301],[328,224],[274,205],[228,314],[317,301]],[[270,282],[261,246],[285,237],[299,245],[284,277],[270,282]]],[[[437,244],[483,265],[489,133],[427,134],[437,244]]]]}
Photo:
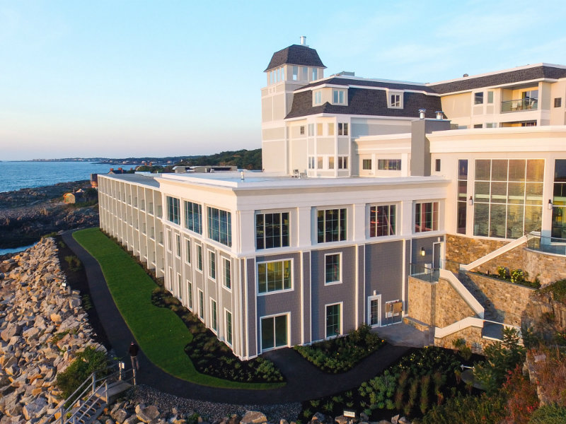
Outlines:
{"type": "Polygon", "coordinates": [[[387,107],[385,90],[349,88],[347,106],[330,105],[326,102],[323,105],[313,107],[312,91],[307,90],[294,93],[293,105],[286,118],[304,117],[319,113],[417,118],[420,108],[427,110],[427,118],[434,118],[434,112],[441,110],[440,98],[436,95],[405,92],[403,94],[403,109],[391,109],[387,107]]]}

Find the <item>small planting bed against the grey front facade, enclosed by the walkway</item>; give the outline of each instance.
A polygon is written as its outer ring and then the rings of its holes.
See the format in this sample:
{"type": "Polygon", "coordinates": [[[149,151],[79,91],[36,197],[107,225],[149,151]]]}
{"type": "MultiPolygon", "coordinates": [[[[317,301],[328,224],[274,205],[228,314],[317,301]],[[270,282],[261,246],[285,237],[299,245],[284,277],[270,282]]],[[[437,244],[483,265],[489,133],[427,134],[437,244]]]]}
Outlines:
{"type": "Polygon", "coordinates": [[[313,343],[311,346],[295,346],[294,349],[320,370],[337,374],[352,369],[384,343],[377,334],[371,333],[369,325],[362,324],[347,336],[313,343]]]}

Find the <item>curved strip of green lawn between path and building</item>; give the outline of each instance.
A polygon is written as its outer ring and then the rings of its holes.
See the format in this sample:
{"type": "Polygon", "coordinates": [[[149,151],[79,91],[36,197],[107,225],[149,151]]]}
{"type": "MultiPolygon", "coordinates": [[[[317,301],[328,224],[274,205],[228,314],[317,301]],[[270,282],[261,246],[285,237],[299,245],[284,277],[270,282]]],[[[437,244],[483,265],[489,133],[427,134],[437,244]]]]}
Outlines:
{"type": "Polygon", "coordinates": [[[273,389],[284,385],[230,382],[197,372],[183,350],[192,341],[192,334],[173,311],[151,304],[151,291],[156,288],[156,283],[144,269],[98,228],[74,232],[73,237],[96,258],[112,298],[139,347],[163,371],[212,387],[273,389]]]}

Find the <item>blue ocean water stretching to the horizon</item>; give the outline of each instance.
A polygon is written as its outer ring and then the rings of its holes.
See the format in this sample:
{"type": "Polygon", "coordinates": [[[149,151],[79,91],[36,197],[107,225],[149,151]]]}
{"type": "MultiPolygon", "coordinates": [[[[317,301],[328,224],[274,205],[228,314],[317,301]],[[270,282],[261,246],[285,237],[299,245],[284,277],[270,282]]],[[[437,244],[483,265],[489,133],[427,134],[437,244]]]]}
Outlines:
{"type": "MultiPolygon", "coordinates": [[[[122,165],[125,170],[136,165],[122,165]]],[[[108,174],[108,165],[91,162],[0,162],[0,192],[42,187],[58,182],[91,179],[91,174],[108,174]]]]}

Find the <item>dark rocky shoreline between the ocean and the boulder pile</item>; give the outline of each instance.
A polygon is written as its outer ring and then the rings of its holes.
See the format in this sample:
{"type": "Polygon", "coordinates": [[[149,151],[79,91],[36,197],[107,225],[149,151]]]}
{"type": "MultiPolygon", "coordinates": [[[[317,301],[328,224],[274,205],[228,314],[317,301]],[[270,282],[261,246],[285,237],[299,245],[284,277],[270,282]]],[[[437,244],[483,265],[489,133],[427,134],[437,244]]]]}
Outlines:
{"type": "Polygon", "coordinates": [[[0,193],[0,249],[31,245],[42,235],[98,225],[98,206],[62,202],[64,193],[88,187],[88,181],[0,193]]]}

